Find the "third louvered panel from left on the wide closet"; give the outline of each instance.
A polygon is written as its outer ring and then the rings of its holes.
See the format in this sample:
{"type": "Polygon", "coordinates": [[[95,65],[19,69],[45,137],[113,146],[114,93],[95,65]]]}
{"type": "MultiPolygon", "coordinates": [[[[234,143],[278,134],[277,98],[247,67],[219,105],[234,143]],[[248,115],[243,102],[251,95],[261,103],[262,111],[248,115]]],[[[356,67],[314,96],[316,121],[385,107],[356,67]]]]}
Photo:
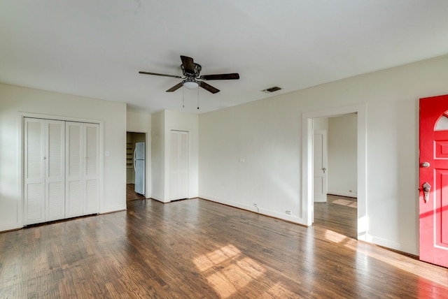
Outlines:
{"type": "Polygon", "coordinates": [[[83,124],[66,122],[66,218],[83,214],[83,124]]]}

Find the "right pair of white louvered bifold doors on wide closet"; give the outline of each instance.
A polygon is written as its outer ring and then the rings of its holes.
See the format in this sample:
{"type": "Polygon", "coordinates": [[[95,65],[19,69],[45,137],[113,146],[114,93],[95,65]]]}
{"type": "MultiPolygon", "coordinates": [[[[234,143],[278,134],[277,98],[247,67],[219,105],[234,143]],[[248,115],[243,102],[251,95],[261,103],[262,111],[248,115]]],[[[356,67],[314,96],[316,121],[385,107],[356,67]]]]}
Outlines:
{"type": "Polygon", "coordinates": [[[99,212],[99,125],[66,122],[66,217],[99,212]]]}

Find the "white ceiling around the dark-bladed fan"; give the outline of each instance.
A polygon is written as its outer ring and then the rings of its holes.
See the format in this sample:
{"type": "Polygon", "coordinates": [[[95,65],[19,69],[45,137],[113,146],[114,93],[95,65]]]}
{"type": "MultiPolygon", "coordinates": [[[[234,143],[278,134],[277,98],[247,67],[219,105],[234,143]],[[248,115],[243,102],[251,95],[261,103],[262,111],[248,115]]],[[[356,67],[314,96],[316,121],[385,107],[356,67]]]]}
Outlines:
{"type": "Polygon", "coordinates": [[[447,0],[2,0],[0,82],[207,112],[448,54],[447,0]],[[180,55],[211,94],[181,80],[180,55]],[[282,88],[272,94],[262,89],[282,88]]]}

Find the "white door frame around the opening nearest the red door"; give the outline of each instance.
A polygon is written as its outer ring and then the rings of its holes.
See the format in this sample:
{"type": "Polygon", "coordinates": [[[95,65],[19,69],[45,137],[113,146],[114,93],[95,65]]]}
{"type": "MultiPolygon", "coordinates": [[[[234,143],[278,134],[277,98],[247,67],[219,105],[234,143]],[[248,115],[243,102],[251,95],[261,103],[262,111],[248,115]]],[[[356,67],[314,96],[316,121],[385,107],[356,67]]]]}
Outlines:
{"type": "MultiPolygon", "coordinates": [[[[356,114],[356,238],[369,241],[367,235],[366,199],[366,106],[365,104],[332,108],[302,115],[302,217],[304,224],[313,224],[314,213],[314,119],[356,114]]],[[[343,194],[342,194],[343,195],[343,194]]],[[[344,198],[339,198],[344,199],[344,198]]],[[[348,200],[348,199],[347,199],[348,200]]],[[[339,202],[340,203],[340,202],[339,202]]],[[[351,203],[349,203],[351,204],[351,203]]]]}

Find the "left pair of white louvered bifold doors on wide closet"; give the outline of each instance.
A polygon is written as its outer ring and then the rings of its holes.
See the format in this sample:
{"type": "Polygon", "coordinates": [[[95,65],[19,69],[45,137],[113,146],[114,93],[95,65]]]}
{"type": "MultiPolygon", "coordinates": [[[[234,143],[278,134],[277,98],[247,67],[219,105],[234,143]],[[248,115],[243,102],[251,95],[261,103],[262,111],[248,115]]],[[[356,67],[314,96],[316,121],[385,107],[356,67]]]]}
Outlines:
{"type": "Polygon", "coordinates": [[[25,118],[25,225],[64,218],[64,133],[64,122],[25,118]]]}

